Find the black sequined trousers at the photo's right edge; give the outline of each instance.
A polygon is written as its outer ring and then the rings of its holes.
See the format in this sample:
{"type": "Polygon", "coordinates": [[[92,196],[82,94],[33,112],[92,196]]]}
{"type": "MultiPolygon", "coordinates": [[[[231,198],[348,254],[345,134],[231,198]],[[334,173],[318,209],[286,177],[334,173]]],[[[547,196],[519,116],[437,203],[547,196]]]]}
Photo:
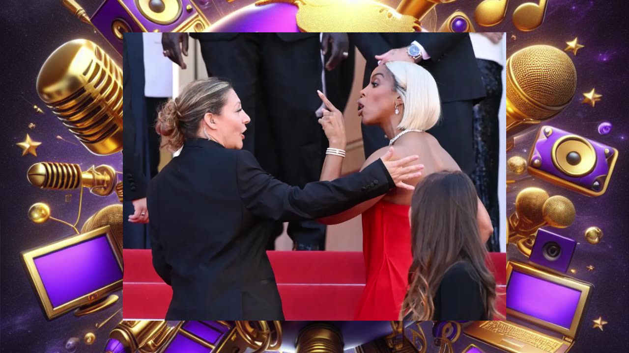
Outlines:
{"type": "Polygon", "coordinates": [[[502,71],[499,63],[478,59],[487,97],[474,106],[474,150],[476,169],[471,175],[485,205],[494,233],[487,241],[489,251],[500,251],[500,210],[498,205],[499,124],[498,112],[503,95],[502,71]]]}

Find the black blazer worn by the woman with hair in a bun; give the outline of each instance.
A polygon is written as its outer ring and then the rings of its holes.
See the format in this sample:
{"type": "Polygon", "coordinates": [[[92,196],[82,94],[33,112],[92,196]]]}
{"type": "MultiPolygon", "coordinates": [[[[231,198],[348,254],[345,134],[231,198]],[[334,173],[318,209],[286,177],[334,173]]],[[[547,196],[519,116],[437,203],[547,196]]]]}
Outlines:
{"type": "Polygon", "coordinates": [[[298,188],[248,151],[186,141],[148,185],[153,266],[173,292],[167,320],[283,320],[265,251],[272,221],[337,214],[393,187],[381,160],[298,188]]]}

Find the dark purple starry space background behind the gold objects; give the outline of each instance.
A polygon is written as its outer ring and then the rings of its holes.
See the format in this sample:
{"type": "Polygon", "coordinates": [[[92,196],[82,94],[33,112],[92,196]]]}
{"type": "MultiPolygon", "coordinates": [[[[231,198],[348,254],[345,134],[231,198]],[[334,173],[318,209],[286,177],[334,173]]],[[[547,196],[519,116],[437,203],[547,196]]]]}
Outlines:
{"type": "MultiPolygon", "coordinates": [[[[506,0],[505,0],[506,1],[506,0]]],[[[88,14],[94,13],[101,1],[77,0],[88,14]]],[[[399,1],[381,1],[395,7],[399,1]]],[[[452,4],[438,7],[440,21],[445,15],[461,9],[473,18],[474,8],[481,0],[458,0],[452,4]]],[[[628,150],[629,122],[625,117],[625,85],[629,82],[629,71],[626,69],[628,48],[622,45],[629,30],[621,26],[619,2],[603,0],[549,0],[545,22],[535,31],[523,33],[511,24],[511,13],[525,0],[511,0],[508,16],[498,26],[483,29],[474,24],[476,30],[506,31],[508,36],[508,52],[513,53],[520,48],[535,44],[548,44],[557,48],[565,48],[565,41],[579,37],[585,48],[579,50],[576,57],[569,56],[577,68],[577,91],[573,102],[550,121],[558,128],[593,138],[601,143],[618,149],[620,156],[611,177],[607,192],[598,198],[590,198],[570,192],[549,183],[526,179],[510,186],[508,189],[507,212],[514,210],[513,202],[519,190],[535,186],[548,191],[550,195],[564,195],[572,200],[577,209],[577,217],[571,227],[557,231],[563,236],[576,239],[579,244],[572,259],[570,268],[576,269],[572,274],[579,280],[594,284],[593,298],[584,313],[584,323],[580,336],[571,352],[592,352],[606,350],[608,352],[629,351],[629,341],[623,339],[623,332],[629,324],[625,312],[629,291],[629,239],[625,235],[629,221],[627,220],[626,195],[629,187],[626,178],[629,176],[628,150]],[[510,38],[516,36],[516,40],[510,38]],[[582,92],[593,87],[602,100],[592,108],[581,104],[582,92]],[[611,132],[601,135],[597,131],[599,122],[609,121],[611,132]],[[603,229],[604,237],[600,244],[592,245],[584,240],[583,232],[587,227],[596,225],[603,229]],[[625,250],[623,250],[625,249],[625,250]],[[586,266],[592,264],[593,271],[586,266]],[[602,316],[609,322],[604,330],[593,329],[594,320],[602,316]]],[[[235,9],[252,4],[253,0],[209,1],[204,12],[209,21],[214,23],[235,9]]],[[[35,293],[31,289],[26,273],[19,262],[20,251],[40,246],[50,241],[72,234],[66,225],[48,221],[45,224],[33,224],[28,219],[28,208],[35,202],[46,202],[50,205],[52,216],[74,223],[78,207],[78,190],[74,192],[58,192],[39,190],[26,180],[26,170],[33,163],[40,161],[62,161],[80,163],[82,169],[91,165],[108,164],[121,170],[120,154],[112,156],[96,156],[81,146],[78,141],[53,116],[35,91],[37,74],[45,59],[58,46],[76,38],[86,38],[96,42],[112,56],[113,49],[103,38],[94,33],[91,27],[74,18],[59,1],[8,0],[3,1],[0,9],[0,22],[3,29],[2,41],[2,99],[0,107],[6,126],[2,129],[3,148],[0,148],[1,180],[0,183],[0,351],[71,353],[71,352],[102,352],[109,331],[120,321],[121,314],[114,316],[103,327],[96,329],[96,323],[103,322],[121,308],[119,301],[103,312],[86,317],[74,317],[71,313],[48,322],[40,309],[35,293]],[[36,104],[44,114],[38,114],[32,108],[36,104]],[[34,129],[28,124],[36,124],[34,129]],[[37,148],[38,156],[21,156],[21,149],[15,143],[30,134],[35,141],[42,142],[37,148]],[[60,141],[55,136],[72,141],[75,145],[60,141]],[[71,193],[70,202],[65,202],[65,195],[71,193]],[[92,332],[96,340],[86,345],[82,337],[92,332]],[[72,340],[75,337],[78,340],[72,340]],[[67,342],[74,344],[66,349],[67,342]]],[[[121,58],[115,57],[121,64],[121,58]]],[[[507,157],[520,155],[526,158],[535,133],[530,132],[516,140],[516,148],[507,157]]],[[[523,175],[511,175],[509,179],[520,179],[523,175]]],[[[115,195],[97,197],[84,192],[83,209],[80,227],[94,212],[106,205],[116,204],[115,195]]],[[[525,261],[513,246],[508,247],[510,258],[525,261]]],[[[118,291],[121,296],[122,292],[118,291]]],[[[425,334],[430,337],[429,323],[422,324],[425,334]]],[[[427,338],[428,338],[427,337],[427,338]]],[[[470,343],[477,343],[463,335],[455,342],[455,352],[460,352],[470,343]]],[[[478,343],[477,343],[478,344],[478,343]]],[[[72,344],[70,344],[72,345],[72,344]]],[[[486,345],[478,344],[484,352],[498,352],[486,345]]]]}

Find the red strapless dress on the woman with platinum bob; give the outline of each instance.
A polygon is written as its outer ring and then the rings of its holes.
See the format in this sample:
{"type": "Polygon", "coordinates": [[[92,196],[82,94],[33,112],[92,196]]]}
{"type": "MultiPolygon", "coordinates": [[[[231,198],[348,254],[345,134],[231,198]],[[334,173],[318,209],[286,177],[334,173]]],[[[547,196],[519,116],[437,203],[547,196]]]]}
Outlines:
{"type": "Polygon", "coordinates": [[[380,200],[362,214],[367,284],[354,320],[399,320],[412,262],[409,208],[380,200]]]}

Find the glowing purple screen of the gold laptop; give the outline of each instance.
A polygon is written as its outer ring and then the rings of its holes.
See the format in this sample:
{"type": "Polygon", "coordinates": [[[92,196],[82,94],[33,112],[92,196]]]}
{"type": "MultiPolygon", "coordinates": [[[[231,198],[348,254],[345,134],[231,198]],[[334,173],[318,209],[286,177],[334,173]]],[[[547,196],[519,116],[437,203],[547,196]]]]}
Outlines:
{"type": "Polygon", "coordinates": [[[580,300],[580,290],[515,269],[511,271],[507,283],[508,309],[567,330],[571,329],[580,300]]]}

